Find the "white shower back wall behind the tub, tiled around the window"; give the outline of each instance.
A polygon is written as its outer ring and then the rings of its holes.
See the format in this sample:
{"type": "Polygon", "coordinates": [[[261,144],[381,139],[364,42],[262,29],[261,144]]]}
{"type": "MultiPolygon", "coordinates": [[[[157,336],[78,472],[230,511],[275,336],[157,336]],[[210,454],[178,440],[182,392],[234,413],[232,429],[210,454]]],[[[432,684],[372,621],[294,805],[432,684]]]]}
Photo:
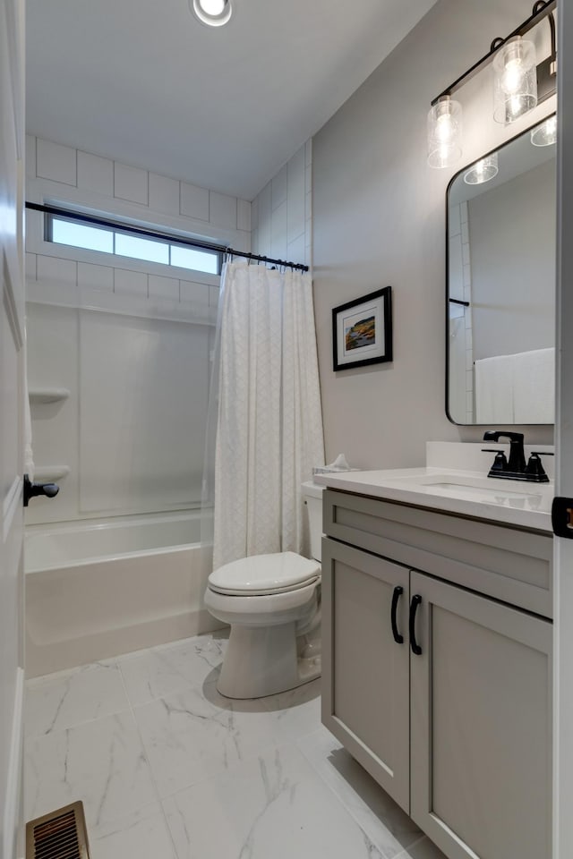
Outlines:
{"type": "MultiPolygon", "coordinates": [[[[247,200],[49,140],[29,136],[26,144],[30,201],[57,201],[64,208],[86,208],[251,250],[247,200]]],[[[188,270],[180,279],[182,269],[157,262],[116,259],[99,251],[45,242],[38,212],[27,211],[26,224],[30,384],[67,387],[71,392],[61,408],[50,412],[49,421],[45,409],[33,410],[37,464],[66,464],[70,473],[51,505],[40,500],[33,509],[30,506],[28,521],[82,518],[99,511],[104,501],[110,509],[113,501],[115,513],[123,514],[181,506],[181,493],[188,493],[197,480],[197,485],[201,483],[204,410],[197,404],[206,403],[207,397],[218,276],[188,270]],[[98,326],[97,336],[90,340],[93,326],[98,326]],[[112,359],[113,332],[116,353],[112,359]],[[81,381],[80,368],[92,374],[91,387],[81,381]],[[181,376],[173,386],[158,384],[159,378],[173,373],[181,376]],[[190,394],[182,397],[184,385],[190,394]],[[132,392],[130,396],[124,396],[125,389],[132,392]],[[112,396],[121,408],[110,408],[112,396]],[[138,408],[145,421],[133,412],[138,408]],[[146,424],[160,424],[162,415],[177,416],[182,409],[189,413],[181,420],[169,421],[167,428],[156,426],[173,438],[169,436],[169,442],[155,450],[156,435],[146,424]],[[120,412],[122,427],[125,424],[121,432],[114,429],[105,438],[103,430],[93,434],[92,413],[101,416],[105,428],[107,416],[120,412]],[[175,430],[178,426],[183,428],[180,433],[175,430]],[[120,450],[125,438],[129,456],[120,450]],[[196,455],[190,438],[199,439],[196,455]],[[105,448],[105,455],[95,463],[92,448],[97,444],[105,448]],[[132,454],[139,457],[137,468],[132,454]],[[119,489],[114,498],[102,501],[96,496],[103,460],[113,464],[119,489]],[[135,491],[141,463],[160,465],[162,475],[147,481],[143,494],[135,491]]]]}

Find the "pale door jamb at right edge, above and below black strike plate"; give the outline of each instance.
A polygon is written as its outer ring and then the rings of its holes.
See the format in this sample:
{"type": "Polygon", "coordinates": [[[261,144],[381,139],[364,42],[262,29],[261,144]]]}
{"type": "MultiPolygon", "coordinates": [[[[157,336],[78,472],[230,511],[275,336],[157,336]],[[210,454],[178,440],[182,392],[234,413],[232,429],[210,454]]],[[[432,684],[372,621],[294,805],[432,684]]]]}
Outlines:
{"type": "MultiPolygon", "coordinates": [[[[559,4],[555,493],[573,498],[573,8],[559,4]]],[[[553,541],[553,857],[573,856],[573,541],[553,541]]]]}

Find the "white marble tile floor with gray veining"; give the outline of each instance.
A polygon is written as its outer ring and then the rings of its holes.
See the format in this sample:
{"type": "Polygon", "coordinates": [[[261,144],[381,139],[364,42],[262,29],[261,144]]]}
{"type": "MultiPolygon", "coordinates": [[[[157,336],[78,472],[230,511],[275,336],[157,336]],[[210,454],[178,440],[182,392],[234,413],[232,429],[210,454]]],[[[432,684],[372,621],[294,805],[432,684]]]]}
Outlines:
{"type": "Polygon", "coordinates": [[[444,859],[321,726],[320,680],[229,701],[225,646],[30,680],[26,820],[83,800],[92,859],[444,859]]]}

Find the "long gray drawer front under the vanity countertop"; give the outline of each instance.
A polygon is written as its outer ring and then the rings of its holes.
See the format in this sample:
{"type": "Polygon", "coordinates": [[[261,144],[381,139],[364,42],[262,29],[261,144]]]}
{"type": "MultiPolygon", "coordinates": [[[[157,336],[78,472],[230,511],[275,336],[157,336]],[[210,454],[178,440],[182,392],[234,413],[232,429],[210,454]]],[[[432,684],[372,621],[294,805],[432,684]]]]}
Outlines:
{"type": "Polygon", "coordinates": [[[336,489],[323,498],[328,537],[552,617],[551,534],[336,489]]]}

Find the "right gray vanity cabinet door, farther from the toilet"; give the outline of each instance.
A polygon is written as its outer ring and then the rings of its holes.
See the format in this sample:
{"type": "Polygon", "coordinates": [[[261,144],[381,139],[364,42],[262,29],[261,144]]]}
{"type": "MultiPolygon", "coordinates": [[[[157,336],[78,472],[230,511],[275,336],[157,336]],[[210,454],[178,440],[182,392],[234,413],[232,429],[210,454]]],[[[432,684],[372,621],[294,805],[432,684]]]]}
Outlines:
{"type": "Polygon", "coordinates": [[[411,815],[451,857],[550,859],[552,624],[412,573],[411,815]]]}

